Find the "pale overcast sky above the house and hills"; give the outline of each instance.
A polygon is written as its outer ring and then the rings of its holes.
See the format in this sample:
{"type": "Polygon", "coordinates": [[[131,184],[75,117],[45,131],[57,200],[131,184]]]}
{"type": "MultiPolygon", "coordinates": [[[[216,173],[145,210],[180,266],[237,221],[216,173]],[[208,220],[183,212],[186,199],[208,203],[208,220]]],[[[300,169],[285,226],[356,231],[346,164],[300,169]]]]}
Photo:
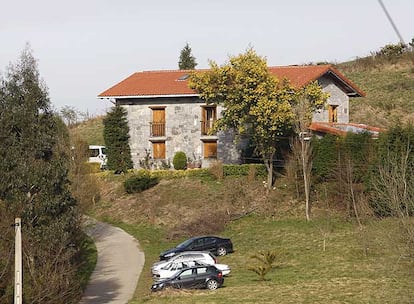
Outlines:
{"type": "MultiPolygon", "coordinates": [[[[383,0],[406,43],[414,0],[383,0]]],[[[134,72],[178,69],[189,43],[198,63],[225,64],[253,47],[269,66],[343,62],[399,38],[377,0],[0,0],[0,73],[26,43],[52,107],[91,116],[97,95],[134,72]]]]}

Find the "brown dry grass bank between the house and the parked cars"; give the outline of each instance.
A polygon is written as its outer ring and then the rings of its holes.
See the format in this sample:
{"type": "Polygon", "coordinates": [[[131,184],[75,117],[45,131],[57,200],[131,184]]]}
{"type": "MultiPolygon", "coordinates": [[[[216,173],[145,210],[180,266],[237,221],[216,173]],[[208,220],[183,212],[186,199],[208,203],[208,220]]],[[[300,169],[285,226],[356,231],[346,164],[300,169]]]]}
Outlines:
{"type": "Polygon", "coordinates": [[[128,195],[121,180],[109,180],[94,214],[130,224],[162,226],[171,239],[214,234],[251,212],[275,212],[273,197],[266,196],[260,183],[247,182],[246,177],[212,182],[182,178],[161,180],[149,190],[128,195]]]}

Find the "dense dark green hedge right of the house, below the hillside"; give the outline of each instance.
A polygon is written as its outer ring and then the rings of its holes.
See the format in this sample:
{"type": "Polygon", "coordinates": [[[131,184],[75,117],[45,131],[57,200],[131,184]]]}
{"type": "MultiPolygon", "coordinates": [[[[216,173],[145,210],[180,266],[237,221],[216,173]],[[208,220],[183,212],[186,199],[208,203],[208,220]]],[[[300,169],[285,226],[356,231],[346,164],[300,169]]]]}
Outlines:
{"type": "Polygon", "coordinates": [[[314,182],[335,182],[345,199],[351,182],[378,216],[414,215],[413,141],[412,125],[391,127],[377,140],[368,133],[314,139],[314,182]]]}

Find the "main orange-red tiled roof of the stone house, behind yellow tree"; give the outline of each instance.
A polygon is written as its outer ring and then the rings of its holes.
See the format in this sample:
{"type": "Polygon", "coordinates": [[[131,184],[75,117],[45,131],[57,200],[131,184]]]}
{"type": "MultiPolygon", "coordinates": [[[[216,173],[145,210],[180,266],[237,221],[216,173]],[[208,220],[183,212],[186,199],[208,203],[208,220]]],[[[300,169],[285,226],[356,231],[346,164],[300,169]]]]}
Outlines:
{"type": "MultiPolygon", "coordinates": [[[[336,81],[339,81],[350,93],[356,96],[365,96],[364,92],[331,65],[269,67],[269,71],[279,79],[288,78],[293,85],[298,87],[307,85],[323,75],[329,74],[336,81]]],[[[180,80],[180,77],[190,72],[185,70],[137,72],[102,92],[98,97],[126,98],[197,95],[195,91],[188,87],[186,79],[180,80]]]]}

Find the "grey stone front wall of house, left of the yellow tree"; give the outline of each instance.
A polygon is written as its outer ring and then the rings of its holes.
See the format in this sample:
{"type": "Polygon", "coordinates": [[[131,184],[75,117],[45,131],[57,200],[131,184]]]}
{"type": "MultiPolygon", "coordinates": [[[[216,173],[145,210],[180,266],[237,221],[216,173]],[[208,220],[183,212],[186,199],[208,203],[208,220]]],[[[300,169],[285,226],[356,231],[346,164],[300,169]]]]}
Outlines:
{"type": "MultiPolygon", "coordinates": [[[[130,128],[130,148],[134,168],[140,168],[147,156],[152,156],[152,143],[165,141],[166,163],[172,166],[174,155],[183,151],[191,160],[200,161],[202,167],[208,167],[214,159],[204,159],[203,140],[217,139],[217,158],[226,163],[238,163],[239,147],[233,144],[232,133],[220,132],[219,136],[201,135],[201,106],[205,105],[197,97],[122,99],[117,100],[127,110],[130,128]],[[165,107],[165,137],[150,137],[152,108],[165,107]]],[[[221,107],[217,107],[217,118],[221,107]]],[[[160,167],[161,161],[153,161],[154,167],[160,167]]]]}

